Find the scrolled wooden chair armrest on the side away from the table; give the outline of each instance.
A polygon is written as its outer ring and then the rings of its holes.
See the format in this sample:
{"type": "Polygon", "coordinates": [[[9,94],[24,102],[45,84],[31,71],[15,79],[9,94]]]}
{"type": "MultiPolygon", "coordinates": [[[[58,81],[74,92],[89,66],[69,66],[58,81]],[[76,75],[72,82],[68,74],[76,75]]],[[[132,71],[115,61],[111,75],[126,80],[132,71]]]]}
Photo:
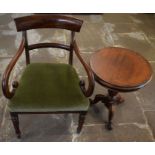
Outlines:
{"type": "Polygon", "coordinates": [[[2,90],[3,90],[3,94],[6,98],[12,98],[14,93],[15,93],[15,88],[18,87],[18,82],[17,81],[13,81],[12,86],[13,86],[13,90],[10,91],[9,88],[9,78],[10,78],[10,74],[11,71],[13,69],[13,67],[15,66],[18,58],[21,56],[21,54],[23,53],[24,50],[24,45],[25,45],[25,39],[23,38],[19,49],[17,51],[17,53],[15,54],[15,56],[12,58],[12,60],[10,61],[9,65],[7,66],[4,74],[3,74],[3,78],[2,78],[2,90]]]}

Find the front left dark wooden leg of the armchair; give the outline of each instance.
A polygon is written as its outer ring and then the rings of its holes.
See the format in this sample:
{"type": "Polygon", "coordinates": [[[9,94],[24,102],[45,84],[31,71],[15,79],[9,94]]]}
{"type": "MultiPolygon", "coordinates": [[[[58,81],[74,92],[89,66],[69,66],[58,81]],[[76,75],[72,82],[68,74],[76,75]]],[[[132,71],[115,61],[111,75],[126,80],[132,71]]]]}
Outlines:
{"type": "Polygon", "coordinates": [[[11,115],[11,120],[12,120],[14,129],[15,129],[15,132],[16,132],[17,138],[20,138],[21,137],[21,132],[20,132],[20,129],[19,129],[18,114],[14,113],[14,112],[10,112],[10,115],[11,115]]]}

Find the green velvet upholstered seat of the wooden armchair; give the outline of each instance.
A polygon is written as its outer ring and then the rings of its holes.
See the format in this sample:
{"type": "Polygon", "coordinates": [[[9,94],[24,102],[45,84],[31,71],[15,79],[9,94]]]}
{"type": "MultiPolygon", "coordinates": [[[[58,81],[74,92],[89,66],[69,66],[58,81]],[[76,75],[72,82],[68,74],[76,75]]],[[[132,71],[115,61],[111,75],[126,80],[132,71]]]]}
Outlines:
{"type": "Polygon", "coordinates": [[[12,112],[86,111],[88,107],[75,69],[50,63],[28,65],[9,103],[12,112]]]}

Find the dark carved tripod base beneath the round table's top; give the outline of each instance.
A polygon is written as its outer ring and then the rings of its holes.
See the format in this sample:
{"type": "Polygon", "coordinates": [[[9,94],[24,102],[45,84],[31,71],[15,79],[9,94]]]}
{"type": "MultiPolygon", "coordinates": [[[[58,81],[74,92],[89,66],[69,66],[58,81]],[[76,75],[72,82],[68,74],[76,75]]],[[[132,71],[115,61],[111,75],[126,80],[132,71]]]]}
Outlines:
{"type": "Polygon", "coordinates": [[[108,122],[106,124],[106,128],[108,130],[112,130],[112,119],[114,116],[114,104],[120,104],[124,102],[124,99],[118,94],[118,92],[113,90],[108,90],[108,95],[98,94],[95,96],[94,100],[91,100],[91,104],[96,104],[99,101],[105,104],[108,108],[108,122]]]}

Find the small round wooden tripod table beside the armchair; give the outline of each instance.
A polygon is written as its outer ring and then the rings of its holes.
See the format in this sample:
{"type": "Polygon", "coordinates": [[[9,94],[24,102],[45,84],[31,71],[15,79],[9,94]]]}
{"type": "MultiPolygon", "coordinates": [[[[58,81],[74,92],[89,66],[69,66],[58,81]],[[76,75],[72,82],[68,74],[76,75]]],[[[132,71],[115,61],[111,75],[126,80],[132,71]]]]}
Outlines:
{"type": "Polygon", "coordinates": [[[108,89],[108,95],[96,94],[92,104],[99,101],[108,108],[107,129],[112,129],[114,104],[124,102],[119,92],[132,92],[144,87],[152,77],[149,62],[140,54],[125,48],[109,47],[95,52],[90,58],[95,81],[108,89]]]}

